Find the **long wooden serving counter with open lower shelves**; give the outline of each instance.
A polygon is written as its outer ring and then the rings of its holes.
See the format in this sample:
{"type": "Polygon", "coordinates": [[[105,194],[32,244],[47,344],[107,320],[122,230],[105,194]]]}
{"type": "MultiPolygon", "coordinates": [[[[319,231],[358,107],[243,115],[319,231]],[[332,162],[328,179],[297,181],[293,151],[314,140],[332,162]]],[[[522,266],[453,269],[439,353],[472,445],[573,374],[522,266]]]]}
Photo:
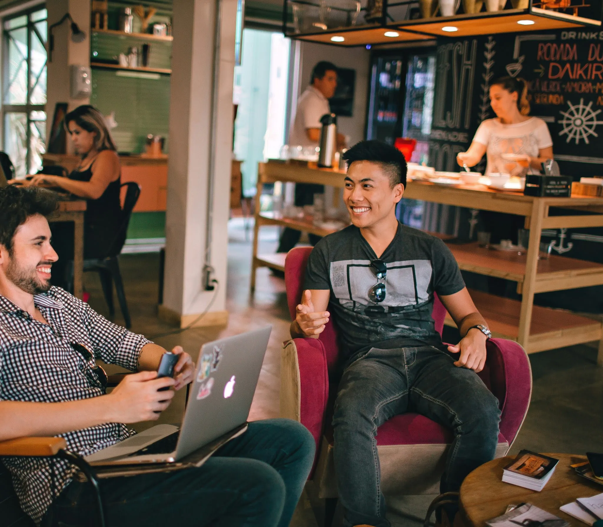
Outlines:
{"type": "MultiPolygon", "coordinates": [[[[290,219],[260,212],[259,199],[264,183],[292,181],[343,188],[344,178],[344,172],[330,169],[279,162],[259,163],[251,268],[252,289],[255,286],[257,267],[283,270],[285,265],[285,254],[257,254],[257,233],[261,226],[288,226],[319,236],[333,232],[315,227],[311,217],[290,219]]],[[[603,265],[600,263],[561,256],[551,256],[548,260],[538,259],[543,229],[603,227],[603,198],[539,198],[518,192],[495,191],[484,186],[443,186],[426,181],[408,181],[404,197],[525,216],[525,227],[530,230],[527,254],[489,250],[478,247],[475,243],[449,244],[461,270],[513,280],[517,282],[518,292],[522,293],[522,301],[517,301],[471,291],[475,305],[488,321],[494,336],[517,341],[528,353],[599,341],[597,362],[603,365],[601,320],[593,320],[569,311],[534,306],[534,294],[538,292],[603,284],[603,265]],[[551,215],[553,207],[561,207],[566,212],[559,216],[551,215]],[[576,210],[576,214],[571,213],[573,210],[576,210]],[[590,214],[584,215],[584,212],[590,214]]],[[[446,318],[446,324],[454,326],[450,317],[446,318]]]]}

